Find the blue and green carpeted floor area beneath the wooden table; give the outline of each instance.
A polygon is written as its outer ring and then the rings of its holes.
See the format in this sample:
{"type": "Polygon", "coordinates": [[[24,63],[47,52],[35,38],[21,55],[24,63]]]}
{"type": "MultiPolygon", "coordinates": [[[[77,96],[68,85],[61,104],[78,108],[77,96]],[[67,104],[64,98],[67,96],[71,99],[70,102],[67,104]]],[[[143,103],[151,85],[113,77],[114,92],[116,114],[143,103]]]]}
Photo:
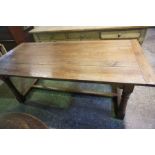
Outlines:
{"type": "MultiPolygon", "coordinates": [[[[18,80],[20,81],[20,80],[18,80]]],[[[23,80],[22,80],[23,81],[23,80]]],[[[17,79],[16,82],[17,83],[17,79]]],[[[109,85],[58,81],[39,81],[44,85],[63,85],[77,89],[110,92],[109,85]]],[[[18,82],[18,87],[19,82],[18,82]]],[[[44,121],[49,128],[123,128],[120,120],[112,117],[109,98],[73,95],[69,93],[32,90],[26,103],[19,104],[5,84],[0,87],[0,112],[24,112],[44,121]]]]}

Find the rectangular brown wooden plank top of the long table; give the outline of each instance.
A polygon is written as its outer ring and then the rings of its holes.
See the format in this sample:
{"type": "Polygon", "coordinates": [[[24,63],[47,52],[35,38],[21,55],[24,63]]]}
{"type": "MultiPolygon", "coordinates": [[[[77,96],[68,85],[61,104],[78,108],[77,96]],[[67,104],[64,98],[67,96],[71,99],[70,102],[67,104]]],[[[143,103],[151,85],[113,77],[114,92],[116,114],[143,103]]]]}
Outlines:
{"type": "Polygon", "coordinates": [[[155,85],[136,39],[23,43],[0,58],[0,75],[155,85]]]}

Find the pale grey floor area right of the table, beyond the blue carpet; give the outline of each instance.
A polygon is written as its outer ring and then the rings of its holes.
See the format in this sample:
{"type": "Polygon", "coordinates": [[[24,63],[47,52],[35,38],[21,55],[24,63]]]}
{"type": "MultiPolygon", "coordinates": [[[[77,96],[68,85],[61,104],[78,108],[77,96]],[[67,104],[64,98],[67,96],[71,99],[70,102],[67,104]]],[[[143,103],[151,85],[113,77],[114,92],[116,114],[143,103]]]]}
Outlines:
{"type": "MultiPolygon", "coordinates": [[[[142,47],[155,71],[155,29],[147,31],[142,47]]],[[[155,88],[135,87],[124,124],[125,128],[155,128],[155,88]]]]}

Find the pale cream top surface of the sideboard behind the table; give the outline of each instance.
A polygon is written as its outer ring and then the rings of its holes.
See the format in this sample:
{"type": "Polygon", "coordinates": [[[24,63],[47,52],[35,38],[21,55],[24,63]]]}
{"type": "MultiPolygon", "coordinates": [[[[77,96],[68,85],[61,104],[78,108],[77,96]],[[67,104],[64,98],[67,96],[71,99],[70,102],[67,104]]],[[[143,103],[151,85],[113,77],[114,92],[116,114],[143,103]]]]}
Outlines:
{"type": "Polygon", "coordinates": [[[65,32],[65,31],[89,31],[89,30],[113,30],[113,29],[141,29],[145,26],[38,26],[30,33],[65,32]]]}

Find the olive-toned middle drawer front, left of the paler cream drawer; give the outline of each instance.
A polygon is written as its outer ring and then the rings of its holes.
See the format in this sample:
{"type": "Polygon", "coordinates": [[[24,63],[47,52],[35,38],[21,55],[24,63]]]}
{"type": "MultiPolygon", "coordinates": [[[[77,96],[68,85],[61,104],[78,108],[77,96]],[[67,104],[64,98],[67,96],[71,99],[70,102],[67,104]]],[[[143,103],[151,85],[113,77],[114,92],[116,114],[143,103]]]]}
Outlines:
{"type": "Polygon", "coordinates": [[[94,40],[99,39],[99,33],[96,32],[72,32],[68,33],[69,40],[94,40]]]}

